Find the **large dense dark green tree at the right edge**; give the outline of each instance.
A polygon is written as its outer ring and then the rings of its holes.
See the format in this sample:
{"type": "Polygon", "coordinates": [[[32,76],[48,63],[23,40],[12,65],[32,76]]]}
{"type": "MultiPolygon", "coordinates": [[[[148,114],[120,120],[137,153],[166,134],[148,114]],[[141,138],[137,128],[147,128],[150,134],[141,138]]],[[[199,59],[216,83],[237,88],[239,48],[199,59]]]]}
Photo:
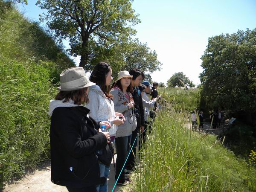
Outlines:
{"type": "Polygon", "coordinates": [[[201,104],[244,110],[247,122],[252,122],[256,113],[256,29],[209,38],[201,59],[201,104]]]}

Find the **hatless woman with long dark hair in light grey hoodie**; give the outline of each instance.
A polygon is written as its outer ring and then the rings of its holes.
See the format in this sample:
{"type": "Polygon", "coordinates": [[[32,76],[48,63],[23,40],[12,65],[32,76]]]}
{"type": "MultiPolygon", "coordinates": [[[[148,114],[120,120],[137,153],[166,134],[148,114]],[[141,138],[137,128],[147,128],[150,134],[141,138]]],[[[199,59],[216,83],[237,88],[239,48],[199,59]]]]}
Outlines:
{"type": "MultiPolygon", "coordinates": [[[[90,109],[90,116],[96,121],[108,121],[111,128],[108,129],[111,140],[114,141],[116,136],[117,125],[121,125],[125,118],[122,113],[115,113],[113,96],[109,93],[109,87],[112,80],[112,69],[108,63],[99,62],[93,69],[90,81],[96,83],[90,87],[89,99],[86,107],[90,109]],[[121,117],[122,119],[119,119],[121,117]]],[[[100,176],[108,177],[110,165],[99,160],[100,176]]],[[[107,181],[96,186],[98,192],[107,192],[107,181]]]]}

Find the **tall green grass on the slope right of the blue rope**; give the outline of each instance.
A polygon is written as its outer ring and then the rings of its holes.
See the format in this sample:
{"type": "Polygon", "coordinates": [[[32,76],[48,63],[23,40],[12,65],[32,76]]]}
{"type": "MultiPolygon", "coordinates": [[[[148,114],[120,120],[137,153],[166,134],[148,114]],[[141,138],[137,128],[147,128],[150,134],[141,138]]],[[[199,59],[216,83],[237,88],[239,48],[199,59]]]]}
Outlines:
{"type": "Polygon", "coordinates": [[[255,191],[256,170],[216,140],[188,129],[186,112],[166,108],[147,136],[130,190],[255,191]]]}

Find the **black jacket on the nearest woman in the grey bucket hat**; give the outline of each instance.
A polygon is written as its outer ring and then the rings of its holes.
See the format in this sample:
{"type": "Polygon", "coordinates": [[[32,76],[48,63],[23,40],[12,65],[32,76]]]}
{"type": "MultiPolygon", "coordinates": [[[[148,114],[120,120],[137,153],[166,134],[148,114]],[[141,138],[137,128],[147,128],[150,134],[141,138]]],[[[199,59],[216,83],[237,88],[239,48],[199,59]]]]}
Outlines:
{"type": "Polygon", "coordinates": [[[89,111],[82,106],[54,109],[50,130],[52,183],[80,188],[105,182],[105,177],[99,177],[95,152],[107,145],[107,139],[97,131],[99,122],[87,117],[89,111]]]}

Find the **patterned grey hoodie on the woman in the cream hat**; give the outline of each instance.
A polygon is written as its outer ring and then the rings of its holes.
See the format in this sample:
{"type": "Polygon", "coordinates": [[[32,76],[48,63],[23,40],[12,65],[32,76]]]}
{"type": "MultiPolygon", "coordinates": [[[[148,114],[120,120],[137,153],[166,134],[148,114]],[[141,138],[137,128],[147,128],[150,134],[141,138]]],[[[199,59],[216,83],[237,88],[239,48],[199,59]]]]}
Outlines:
{"type": "MultiPolygon", "coordinates": [[[[113,103],[115,106],[115,111],[122,113],[125,116],[126,121],[124,124],[119,125],[116,131],[116,137],[126,137],[132,134],[137,127],[137,119],[133,115],[132,109],[128,109],[128,103],[131,102],[125,96],[125,94],[118,87],[114,87],[110,93],[113,95],[113,103]]],[[[129,97],[132,98],[131,94],[129,97]]]]}

